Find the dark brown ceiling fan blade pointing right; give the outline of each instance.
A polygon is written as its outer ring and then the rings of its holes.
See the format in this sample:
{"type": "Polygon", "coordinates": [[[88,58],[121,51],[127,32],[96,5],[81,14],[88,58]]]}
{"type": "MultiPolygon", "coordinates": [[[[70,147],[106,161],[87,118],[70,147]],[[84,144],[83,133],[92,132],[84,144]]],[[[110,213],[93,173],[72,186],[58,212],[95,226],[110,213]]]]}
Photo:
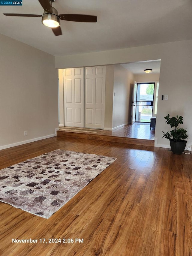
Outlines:
{"type": "Polygon", "coordinates": [[[60,14],[59,18],[67,21],[97,22],[97,16],[84,14],[60,14]]]}

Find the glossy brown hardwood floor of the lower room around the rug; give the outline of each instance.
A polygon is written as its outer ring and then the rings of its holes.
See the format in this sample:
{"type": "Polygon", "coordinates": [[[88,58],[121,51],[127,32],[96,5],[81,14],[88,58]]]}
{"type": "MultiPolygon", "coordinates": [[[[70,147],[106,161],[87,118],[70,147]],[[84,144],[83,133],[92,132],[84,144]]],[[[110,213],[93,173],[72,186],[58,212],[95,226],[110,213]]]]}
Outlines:
{"type": "Polygon", "coordinates": [[[52,137],[1,150],[0,169],[54,149],[117,159],[49,219],[0,202],[1,256],[192,255],[191,154],[52,137]],[[12,242],[30,238],[38,241],[12,242]]]}

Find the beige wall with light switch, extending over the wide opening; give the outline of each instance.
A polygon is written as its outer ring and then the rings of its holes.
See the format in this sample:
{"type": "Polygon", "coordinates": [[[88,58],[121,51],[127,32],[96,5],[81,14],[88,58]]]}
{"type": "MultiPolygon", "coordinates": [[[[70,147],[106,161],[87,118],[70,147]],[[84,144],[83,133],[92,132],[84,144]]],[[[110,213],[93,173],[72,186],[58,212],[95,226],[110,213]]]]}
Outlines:
{"type": "Polygon", "coordinates": [[[170,147],[162,138],[168,131],[164,116],[181,114],[183,127],[188,131],[187,146],[192,144],[192,40],[155,44],[104,52],[55,57],[56,68],[84,67],[161,59],[159,95],[168,95],[168,101],[158,101],[155,145],[170,147]]]}

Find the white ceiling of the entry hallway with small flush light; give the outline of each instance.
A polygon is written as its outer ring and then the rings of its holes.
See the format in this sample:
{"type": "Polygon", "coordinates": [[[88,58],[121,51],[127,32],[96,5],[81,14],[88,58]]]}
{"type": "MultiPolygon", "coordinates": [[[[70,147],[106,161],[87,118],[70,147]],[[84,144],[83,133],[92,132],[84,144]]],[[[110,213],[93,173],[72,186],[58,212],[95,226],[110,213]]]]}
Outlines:
{"type": "Polygon", "coordinates": [[[124,68],[131,71],[133,74],[146,74],[144,69],[152,69],[150,74],[159,74],[161,60],[153,60],[153,61],[139,61],[127,64],[121,64],[124,68]]]}

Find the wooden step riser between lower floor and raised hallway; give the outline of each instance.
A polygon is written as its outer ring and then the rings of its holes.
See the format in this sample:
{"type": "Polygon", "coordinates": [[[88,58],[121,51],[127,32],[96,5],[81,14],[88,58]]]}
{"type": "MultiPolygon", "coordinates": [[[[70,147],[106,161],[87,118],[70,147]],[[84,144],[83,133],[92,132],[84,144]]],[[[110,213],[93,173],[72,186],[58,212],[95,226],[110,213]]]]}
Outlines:
{"type": "Polygon", "coordinates": [[[73,132],[57,131],[57,136],[58,137],[73,137],[73,138],[81,138],[81,139],[89,139],[89,140],[103,140],[103,141],[119,142],[119,143],[142,145],[142,146],[152,146],[152,147],[154,147],[154,144],[155,144],[154,140],[90,134],[90,133],[86,133],[86,132],[79,133],[79,132],[74,132],[74,131],[73,132]]]}

